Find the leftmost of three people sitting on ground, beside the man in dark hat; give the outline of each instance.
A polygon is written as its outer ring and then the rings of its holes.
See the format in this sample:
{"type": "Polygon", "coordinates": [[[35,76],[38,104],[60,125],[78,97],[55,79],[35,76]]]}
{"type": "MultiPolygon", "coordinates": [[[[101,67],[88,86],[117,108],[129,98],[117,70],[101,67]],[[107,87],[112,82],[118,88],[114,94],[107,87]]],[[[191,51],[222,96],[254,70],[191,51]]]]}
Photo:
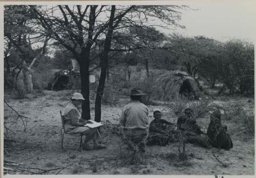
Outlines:
{"type": "Polygon", "coordinates": [[[165,146],[168,142],[177,141],[176,125],[161,119],[161,112],[155,111],[154,120],[150,123],[150,133],[148,136],[148,145],[165,146]]]}

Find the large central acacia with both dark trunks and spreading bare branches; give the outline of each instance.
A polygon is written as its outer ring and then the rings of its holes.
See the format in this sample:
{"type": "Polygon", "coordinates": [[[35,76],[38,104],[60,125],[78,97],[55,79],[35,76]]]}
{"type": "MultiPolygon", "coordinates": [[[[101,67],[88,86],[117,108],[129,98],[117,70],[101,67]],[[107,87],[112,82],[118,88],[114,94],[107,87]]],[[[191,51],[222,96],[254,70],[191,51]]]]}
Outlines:
{"type": "MultiPolygon", "coordinates": [[[[112,36],[115,30],[146,22],[147,16],[160,18],[168,24],[177,24],[181,6],[55,6],[52,8],[31,7],[39,24],[39,30],[51,35],[58,43],[70,50],[80,65],[82,118],[90,119],[89,65],[91,49],[99,39],[104,40],[100,53],[101,76],[97,89],[95,109],[100,108],[104,89],[105,73],[108,69],[108,56],[111,51],[112,36]]],[[[146,26],[146,25],[145,25],[146,26]]],[[[98,110],[100,111],[100,109],[98,110]]],[[[100,120],[100,114],[97,121],[100,120]]]]}

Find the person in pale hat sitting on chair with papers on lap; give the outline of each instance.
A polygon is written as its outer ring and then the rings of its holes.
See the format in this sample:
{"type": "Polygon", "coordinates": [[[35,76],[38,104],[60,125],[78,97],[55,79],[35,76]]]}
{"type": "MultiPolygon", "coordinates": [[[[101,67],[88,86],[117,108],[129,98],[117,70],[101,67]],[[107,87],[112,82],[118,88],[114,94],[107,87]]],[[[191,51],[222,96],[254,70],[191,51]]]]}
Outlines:
{"type": "Polygon", "coordinates": [[[96,129],[90,129],[87,126],[84,126],[87,123],[91,123],[89,120],[81,120],[81,114],[78,110],[78,107],[82,104],[84,100],[81,93],[74,93],[71,96],[71,103],[69,103],[64,111],[63,117],[65,122],[65,128],[67,132],[72,134],[83,134],[86,136],[82,143],[82,148],[85,150],[90,149],[101,149],[106,146],[100,145],[98,143],[98,132],[96,129]],[[93,140],[94,146],[91,147],[88,143],[90,140],[93,140]]]}

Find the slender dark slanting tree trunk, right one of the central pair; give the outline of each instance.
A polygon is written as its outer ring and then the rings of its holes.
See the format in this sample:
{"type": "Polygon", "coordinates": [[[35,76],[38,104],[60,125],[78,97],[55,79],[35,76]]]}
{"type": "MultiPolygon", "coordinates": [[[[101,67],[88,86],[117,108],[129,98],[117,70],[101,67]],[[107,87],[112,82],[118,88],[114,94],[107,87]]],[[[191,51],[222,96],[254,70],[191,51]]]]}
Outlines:
{"type": "Polygon", "coordinates": [[[103,90],[105,86],[106,69],[108,68],[108,64],[109,64],[108,58],[109,58],[111,40],[113,35],[113,22],[114,22],[114,16],[115,16],[115,9],[116,9],[116,6],[111,6],[109,30],[108,30],[108,33],[106,34],[103,54],[102,56],[100,56],[101,71],[100,71],[99,85],[97,88],[96,99],[95,99],[95,121],[96,122],[100,122],[101,120],[101,97],[103,95],[103,90]]]}

